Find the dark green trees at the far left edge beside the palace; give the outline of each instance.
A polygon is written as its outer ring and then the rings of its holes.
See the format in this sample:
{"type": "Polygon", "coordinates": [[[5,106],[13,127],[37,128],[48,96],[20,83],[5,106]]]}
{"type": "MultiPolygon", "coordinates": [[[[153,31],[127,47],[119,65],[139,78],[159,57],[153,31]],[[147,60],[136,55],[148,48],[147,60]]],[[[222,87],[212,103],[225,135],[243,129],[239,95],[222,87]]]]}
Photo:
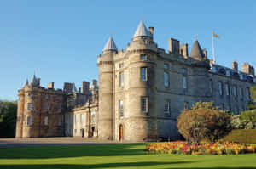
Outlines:
{"type": "Polygon", "coordinates": [[[15,137],[17,102],[0,102],[0,138],[15,137]]]}

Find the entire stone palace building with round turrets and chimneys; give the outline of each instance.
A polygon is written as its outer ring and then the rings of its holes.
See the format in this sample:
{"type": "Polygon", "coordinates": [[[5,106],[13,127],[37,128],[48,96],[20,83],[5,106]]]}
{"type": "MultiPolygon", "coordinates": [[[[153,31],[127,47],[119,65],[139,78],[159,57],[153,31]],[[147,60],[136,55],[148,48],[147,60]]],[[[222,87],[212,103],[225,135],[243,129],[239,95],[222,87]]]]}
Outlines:
{"type": "Polygon", "coordinates": [[[239,71],[236,62],[233,69],[216,65],[197,40],[190,54],[188,44],[173,38],[168,44],[168,52],[158,48],[154,28],[148,31],[142,21],[125,50],[109,38],[97,57],[99,86],[83,82],[77,91],[74,83],[64,83],[63,90],[26,84],[18,93],[16,137],[178,139],[177,116],[195,102],[213,101],[234,114],[247,109],[248,88],[256,85],[253,66],[243,64],[239,71]]]}

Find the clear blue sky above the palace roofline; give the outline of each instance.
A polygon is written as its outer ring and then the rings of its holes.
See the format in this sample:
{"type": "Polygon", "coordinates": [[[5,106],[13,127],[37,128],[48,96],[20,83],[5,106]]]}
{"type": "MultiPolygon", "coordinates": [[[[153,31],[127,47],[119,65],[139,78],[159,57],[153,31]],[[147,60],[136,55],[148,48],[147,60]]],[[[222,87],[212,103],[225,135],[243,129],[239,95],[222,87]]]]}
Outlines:
{"type": "Polygon", "coordinates": [[[256,1],[1,1],[0,99],[17,99],[17,91],[34,70],[42,86],[98,79],[96,57],[110,31],[125,48],[143,20],[154,26],[154,41],[167,50],[167,39],[189,43],[198,35],[212,58],[212,35],[219,65],[236,60],[256,67],[256,1]]]}

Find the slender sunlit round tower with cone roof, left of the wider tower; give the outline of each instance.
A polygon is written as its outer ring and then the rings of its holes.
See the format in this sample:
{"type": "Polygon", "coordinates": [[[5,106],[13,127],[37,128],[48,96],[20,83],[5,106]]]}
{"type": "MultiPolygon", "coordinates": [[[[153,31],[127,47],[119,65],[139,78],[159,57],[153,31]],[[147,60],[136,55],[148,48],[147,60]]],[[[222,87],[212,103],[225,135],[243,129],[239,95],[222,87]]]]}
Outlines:
{"type": "Polygon", "coordinates": [[[117,48],[113,38],[109,37],[102,56],[97,60],[99,67],[98,137],[101,139],[113,139],[113,57],[116,53],[117,48]]]}

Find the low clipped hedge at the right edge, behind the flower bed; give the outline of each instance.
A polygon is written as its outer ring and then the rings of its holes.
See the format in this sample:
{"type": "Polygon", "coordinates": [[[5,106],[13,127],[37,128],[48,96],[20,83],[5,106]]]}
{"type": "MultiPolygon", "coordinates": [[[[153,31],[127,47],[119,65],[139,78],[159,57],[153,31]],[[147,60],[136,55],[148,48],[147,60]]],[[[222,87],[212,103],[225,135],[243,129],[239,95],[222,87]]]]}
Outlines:
{"type": "Polygon", "coordinates": [[[255,144],[256,143],[256,129],[236,129],[232,130],[229,135],[223,138],[224,141],[255,144]]]}

